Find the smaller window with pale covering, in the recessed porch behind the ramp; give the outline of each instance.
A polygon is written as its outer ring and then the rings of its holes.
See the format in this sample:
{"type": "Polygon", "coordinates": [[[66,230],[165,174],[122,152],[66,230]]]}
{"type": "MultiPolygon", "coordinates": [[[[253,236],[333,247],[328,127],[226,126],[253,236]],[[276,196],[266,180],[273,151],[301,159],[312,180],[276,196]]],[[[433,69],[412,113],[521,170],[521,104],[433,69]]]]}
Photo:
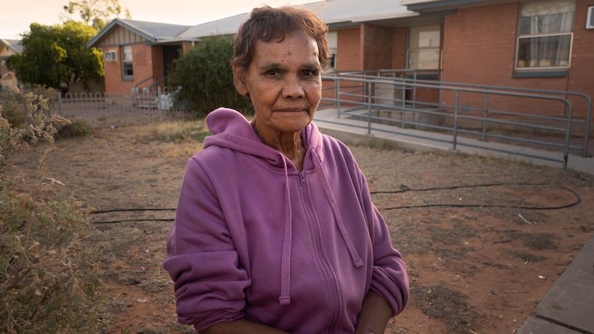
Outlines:
{"type": "Polygon", "coordinates": [[[409,70],[439,70],[440,25],[409,29],[409,70]]]}

